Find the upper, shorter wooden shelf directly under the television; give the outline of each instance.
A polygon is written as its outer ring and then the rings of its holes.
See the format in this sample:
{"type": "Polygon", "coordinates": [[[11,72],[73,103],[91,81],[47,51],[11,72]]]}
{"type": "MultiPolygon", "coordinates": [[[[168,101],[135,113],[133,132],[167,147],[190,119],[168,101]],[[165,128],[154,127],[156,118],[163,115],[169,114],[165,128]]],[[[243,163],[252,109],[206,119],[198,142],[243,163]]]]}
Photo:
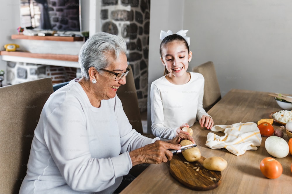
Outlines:
{"type": "Polygon", "coordinates": [[[13,34],[11,39],[27,39],[27,40],[52,40],[52,41],[83,41],[83,37],[71,37],[71,36],[26,36],[22,34],[13,34]]]}

